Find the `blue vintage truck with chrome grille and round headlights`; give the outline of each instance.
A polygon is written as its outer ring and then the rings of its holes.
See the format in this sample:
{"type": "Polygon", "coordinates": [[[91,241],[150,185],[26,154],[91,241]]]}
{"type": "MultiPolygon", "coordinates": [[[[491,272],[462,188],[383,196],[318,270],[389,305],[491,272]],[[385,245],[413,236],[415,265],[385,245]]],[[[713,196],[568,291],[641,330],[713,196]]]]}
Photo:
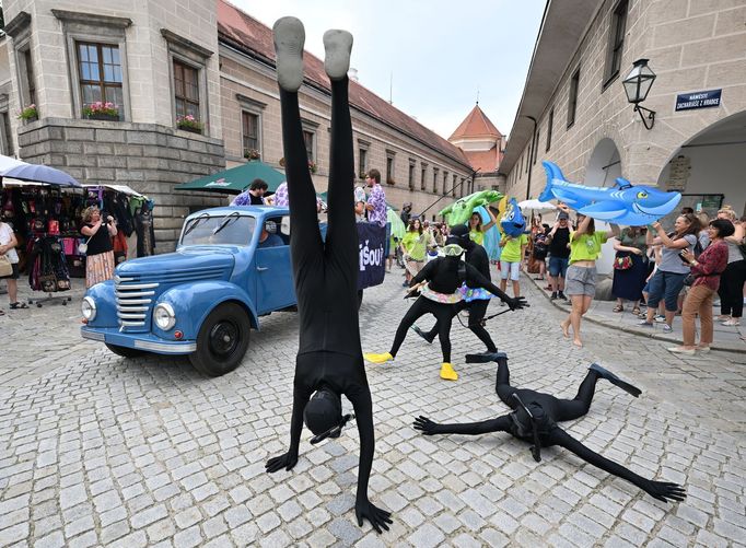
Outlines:
{"type": "MultiPolygon", "coordinates": [[[[376,229],[383,230],[360,228],[376,229]]],[[[361,279],[368,285],[381,283],[383,253],[373,253],[365,242],[361,279]]],[[[113,280],[85,293],[81,335],[125,358],[188,354],[207,375],[233,371],[259,317],[295,305],[289,243],[288,208],[238,206],[193,213],[176,252],[123,263],[113,280]],[[265,243],[263,230],[269,234],[265,243]]]]}

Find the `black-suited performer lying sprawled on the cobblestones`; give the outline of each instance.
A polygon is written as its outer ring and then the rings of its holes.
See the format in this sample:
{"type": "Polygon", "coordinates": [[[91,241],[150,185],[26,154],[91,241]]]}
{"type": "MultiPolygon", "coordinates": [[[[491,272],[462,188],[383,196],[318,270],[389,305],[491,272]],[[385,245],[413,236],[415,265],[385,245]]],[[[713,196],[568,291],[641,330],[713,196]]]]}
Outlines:
{"type": "MultiPolygon", "coordinates": [[[[467,355],[466,361],[483,361],[483,359],[475,354],[467,355]]],[[[498,362],[498,396],[503,404],[513,409],[513,412],[497,419],[465,424],[438,424],[420,416],[415,419],[415,429],[427,435],[476,435],[489,432],[509,432],[515,438],[534,444],[532,452],[536,462],[541,460],[541,447],[559,445],[593,466],[634,483],[654,499],[667,502],[668,500],[681,501],[686,498],[681,486],[666,481],[653,481],[638,476],[630,469],[590,450],[557,425],[558,421],[574,420],[588,412],[598,378],[609,381],[634,397],[640,395],[638,388],[594,363],[588,368],[588,373],[581,383],[575,398],[558,399],[540,392],[512,387],[510,385],[510,372],[508,371],[508,357],[504,353],[499,353],[496,361],[498,362]]]]}

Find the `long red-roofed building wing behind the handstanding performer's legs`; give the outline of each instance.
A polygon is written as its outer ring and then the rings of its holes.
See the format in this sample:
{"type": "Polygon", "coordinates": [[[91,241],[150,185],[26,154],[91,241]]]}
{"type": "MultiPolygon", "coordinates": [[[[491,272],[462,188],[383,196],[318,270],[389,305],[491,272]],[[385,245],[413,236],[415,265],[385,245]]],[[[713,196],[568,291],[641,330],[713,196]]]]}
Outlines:
{"type": "MultiPolygon", "coordinates": [[[[271,30],[228,2],[218,2],[223,138],[229,165],[256,149],[281,168],[280,104],[271,30]]],[[[323,61],[305,54],[301,117],[310,156],[317,164],[316,190],[328,183],[330,91],[323,61]]],[[[473,191],[473,170],[464,152],[401,113],[354,79],[350,81],[355,172],[377,168],[386,199],[396,208],[412,202],[415,213],[435,219],[453,197],[473,191]],[[433,202],[441,199],[434,206],[433,202]],[[431,207],[432,206],[432,207],[431,207]],[[430,209],[428,209],[430,207],[430,209]]]]}

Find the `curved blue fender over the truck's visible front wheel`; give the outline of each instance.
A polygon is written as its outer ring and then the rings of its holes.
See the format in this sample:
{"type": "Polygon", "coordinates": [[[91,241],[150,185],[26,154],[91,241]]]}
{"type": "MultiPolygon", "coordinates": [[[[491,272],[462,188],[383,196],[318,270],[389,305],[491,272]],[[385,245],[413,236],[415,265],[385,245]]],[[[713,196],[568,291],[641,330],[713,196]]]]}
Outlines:
{"type": "MultiPolygon", "coordinates": [[[[177,285],[164,291],[158,303],[166,302],[173,306],[176,314],[176,325],[172,329],[179,329],[184,333],[184,339],[191,340],[199,335],[199,328],[208,314],[228,301],[243,306],[252,327],[259,328],[256,307],[248,294],[238,285],[228,281],[209,280],[177,285]]],[[[153,331],[161,333],[154,323],[153,331]]]]}

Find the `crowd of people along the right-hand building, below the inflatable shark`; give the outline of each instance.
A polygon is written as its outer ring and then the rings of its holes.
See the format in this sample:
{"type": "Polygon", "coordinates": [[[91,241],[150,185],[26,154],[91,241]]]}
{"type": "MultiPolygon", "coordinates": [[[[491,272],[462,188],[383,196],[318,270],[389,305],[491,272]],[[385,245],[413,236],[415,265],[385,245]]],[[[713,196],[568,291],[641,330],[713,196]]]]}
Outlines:
{"type": "MultiPolygon", "coordinates": [[[[601,245],[611,236],[615,252],[611,294],[616,300],[613,311],[629,310],[638,316],[641,327],[660,324],[664,333],[674,331],[674,318],[680,315],[683,345],[668,348],[671,352],[693,354],[710,350],[712,311],[716,304],[721,313],[716,320],[722,326],[741,325],[746,281],[746,217],[738,219],[731,207],[719,210],[712,220],[704,212],[683,208],[669,232],[655,222],[621,230],[610,225],[611,232],[607,234],[594,230],[593,219],[578,214],[573,225],[570,215],[567,206],[560,203],[552,226],[534,224],[531,259],[539,264],[537,279],[544,279],[545,271],[548,273],[550,299],[571,303],[571,313],[561,328],[566,337],[572,335],[576,346],[582,346],[581,318],[595,294],[595,261],[601,255],[601,245]],[[697,318],[700,341],[695,345],[697,318]]],[[[504,252],[501,258],[504,259],[504,252]]],[[[505,269],[510,270],[508,266],[505,269]]]]}

